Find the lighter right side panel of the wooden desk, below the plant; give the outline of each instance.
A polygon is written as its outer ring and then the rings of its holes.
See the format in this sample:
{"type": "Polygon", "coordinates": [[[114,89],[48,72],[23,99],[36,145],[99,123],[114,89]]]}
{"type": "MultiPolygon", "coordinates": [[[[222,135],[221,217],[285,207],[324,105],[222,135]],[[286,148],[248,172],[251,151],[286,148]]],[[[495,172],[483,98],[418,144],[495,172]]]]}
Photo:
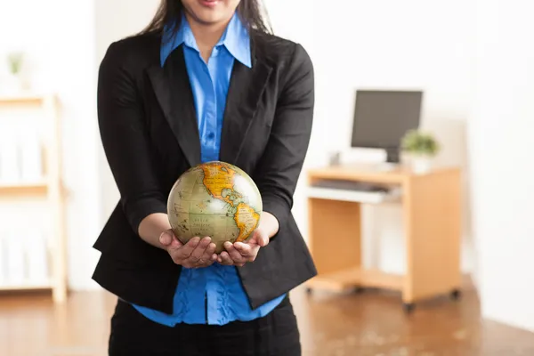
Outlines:
{"type": "Polygon", "coordinates": [[[460,287],[460,184],[456,172],[414,176],[405,184],[406,304],[460,287]]]}

